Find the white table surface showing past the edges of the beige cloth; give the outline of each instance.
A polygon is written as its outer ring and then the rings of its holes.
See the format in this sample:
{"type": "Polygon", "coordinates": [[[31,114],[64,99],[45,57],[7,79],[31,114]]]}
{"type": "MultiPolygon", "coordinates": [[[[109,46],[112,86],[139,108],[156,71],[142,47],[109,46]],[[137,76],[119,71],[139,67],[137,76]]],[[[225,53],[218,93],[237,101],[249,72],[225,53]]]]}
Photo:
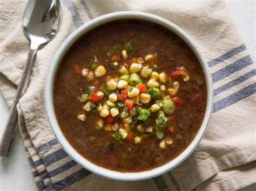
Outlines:
{"type": "MultiPolygon", "coordinates": [[[[235,24],[255,61],[255,1],[226,1],[235,24]]],[[[0,125],[4,125],[9,109],[0,93],[0,125]]],[[[1,132],[0,132],[1,133],[1,132]]],[[[255,185],[254,185],[255,186],[255,185]]],[[[254,187],[255,188],[255,187],[254,187]]],[[[0,157],[0,190],[36,190],[22,138],[16,134],[8,158],[0,157]]],[[[245,190],[251,190],[248,187],[245,190]]]]}

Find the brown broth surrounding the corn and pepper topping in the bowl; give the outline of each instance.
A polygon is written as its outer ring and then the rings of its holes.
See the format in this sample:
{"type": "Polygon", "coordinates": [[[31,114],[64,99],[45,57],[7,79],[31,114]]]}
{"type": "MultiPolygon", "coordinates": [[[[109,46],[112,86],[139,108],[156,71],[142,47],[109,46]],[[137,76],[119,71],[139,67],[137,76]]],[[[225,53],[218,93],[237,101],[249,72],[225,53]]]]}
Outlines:
{"type": "MultiPolygon", "coordinates": [[[[125,61],[122,60],[121,63],[125,61]]],[[[99,77],[100,83],[106,83],[106,75],[99,77]]],[[[156,24],[139,20],[124,20],[98,27],[85,34],[70,48],[58,68],[53,88],[53,102],[58,124],[65,138],[72,147],[85,159],[98,166],[119,172],[141,172],[156,168],[176,158],[190,145],[196,136],[204,118],[206,109],[206,86],[198,86],[196,77],[203,75],[203,70],[196,55],[173,32],[156,24]],[[119,76],[118,70],[110,68],[111,58],[106,55],[111,47],[122,42],[131,42],[135,57],[143,57],[148,53],[157,53],[157,72],[165,71],[171,74],[177,67],[185,67],[190,80],[184,82],[178,79],[180,89],[176,96],[183,100],[174,112],[173,144],[165,150],[159,148],[159,140],[152,133],[144,138],[141,144],[135,145],[133,140],[113,139],[111,131],[104,128],[97,130],[98,112],[87,115],[85,122],[77,119],[83,113],[84,103],[78,101],[78,96],[85,93],[85,87],[92,86],[82,75],[74,72],[73,66],[90,68],[92,55],[97,55],[100,64],[105,66],[106,75],[119,76]],[[106,61],[109,60],[109,61],[106,61]],[[199,94],[198,101],[191,103],[191,99],[199,94]],[[181,139],[177,139],[181,135],[181,139]],[[92,139],[92,137],[94,137],[92,139]],[[90,140],[91,139],[91,140],[90,140]]],[[[147,81],[144,79],[144,81],[147,81]]],[[[156,114],[152,113],[148,124],[155,124],[156,114]]],[[[118,119],[122,123],[121,119],[118,119]]],[[[116,122],[114,122],[116,123],[116,122]]],[[[113,123],[112,123],[113,124],[113,123]]],[[[136,128],[131,130],[139,135],[136,128]]],[[[164,137],[169,137],[165,133],[164,137]]]]}

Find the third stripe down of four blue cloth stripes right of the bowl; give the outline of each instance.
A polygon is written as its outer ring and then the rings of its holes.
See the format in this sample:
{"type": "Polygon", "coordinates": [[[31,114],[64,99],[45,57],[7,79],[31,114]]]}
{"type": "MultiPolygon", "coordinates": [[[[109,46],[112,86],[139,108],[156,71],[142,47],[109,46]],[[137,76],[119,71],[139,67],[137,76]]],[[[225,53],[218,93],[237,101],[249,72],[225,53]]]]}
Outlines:
{"type": "Polygon", "coordinates": [[[237,79],[232,80],[231,82],[228,82],[228,83],[224,84],[223,86],[221,86],[219,88],[214,89],[214,95],[217,95],[217,94],[221,93],[222,91],[230,89],[233,86],[236,86],[237,84],[239,84],[241,82],[244,82],[247,79],[250,79],[250,77],[255,76],[255,75],[256,75],[256,69],[238,77],[237,79]]]}

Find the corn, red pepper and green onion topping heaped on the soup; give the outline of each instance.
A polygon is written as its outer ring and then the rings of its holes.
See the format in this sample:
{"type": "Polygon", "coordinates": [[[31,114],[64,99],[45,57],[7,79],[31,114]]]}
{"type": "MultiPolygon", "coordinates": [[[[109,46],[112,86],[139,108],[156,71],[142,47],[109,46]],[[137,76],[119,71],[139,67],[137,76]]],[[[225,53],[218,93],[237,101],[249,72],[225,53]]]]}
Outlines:
{"type": "MultiPolygon", "coordinates": [[[[136,58],[134,51],[127,42],[114,45],[106,53],[111,58],[110,70],[118,70],[119,76],[108,75],[110,71],[100,65],[102,61],[92,55],[90,68],[81,68],[80,72],[91,86],[86,87],[86,94],[78,97],[86,112],[77,118],[86,121],[86,113],[95,112],[96,131],[110,131],[110,136],[120,142],[133,139],[136,145],[147,137],[155,137],[159,139],[159,147],[165,149],[173,144],[170,134],[174,133],[175,111],[183,104],[182,98],[176,95],[181,88],[180,81],[186,83],[190,76],[183,66],[166,73],[157,65],[158,54],[136,58]],[[99,79],[105,83],[99,84],[99,79]]],[[[200,85],[204,80],[198,77],[197,82],[200,85]]],[[[181,136],[175,135],[177,139],[181,136]]]]}

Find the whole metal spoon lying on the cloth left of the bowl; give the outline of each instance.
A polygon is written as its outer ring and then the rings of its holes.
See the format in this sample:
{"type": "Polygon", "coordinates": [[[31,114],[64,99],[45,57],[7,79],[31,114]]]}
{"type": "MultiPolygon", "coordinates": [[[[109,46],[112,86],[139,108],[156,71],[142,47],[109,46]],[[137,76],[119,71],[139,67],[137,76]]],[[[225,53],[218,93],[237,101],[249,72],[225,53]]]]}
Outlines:
{"type": "Polygon", "coordinates": [[[30,53],[0,142],[0,156],[2,157],[8,157],[9,155],[18,117],[16,106],[19,98],[28,87],[36,52],[56,36],[60,26],[60,17],[59,0],[30,0],[26,5],[23,16],[23,30],[30,39],[30,53]]]}

